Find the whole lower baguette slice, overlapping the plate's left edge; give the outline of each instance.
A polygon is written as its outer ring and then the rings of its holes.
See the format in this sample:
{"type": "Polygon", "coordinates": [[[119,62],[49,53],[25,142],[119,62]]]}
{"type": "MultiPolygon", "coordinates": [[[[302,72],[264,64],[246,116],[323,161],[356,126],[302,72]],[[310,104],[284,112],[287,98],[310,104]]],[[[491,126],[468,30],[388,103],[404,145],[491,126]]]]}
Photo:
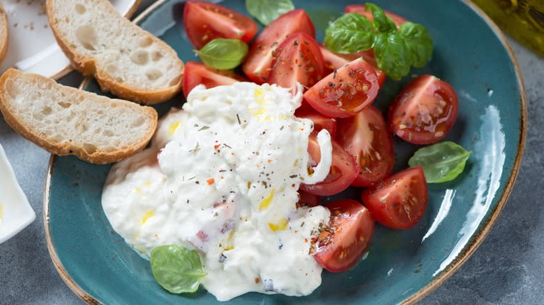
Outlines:
{"type": "Polygon", "coordinates": [[[142,150],[157,127],[157,111],[56,84],[9,69],[0,77],[0,111],[25,139],[54,155],[95,164],[142,150]]]}

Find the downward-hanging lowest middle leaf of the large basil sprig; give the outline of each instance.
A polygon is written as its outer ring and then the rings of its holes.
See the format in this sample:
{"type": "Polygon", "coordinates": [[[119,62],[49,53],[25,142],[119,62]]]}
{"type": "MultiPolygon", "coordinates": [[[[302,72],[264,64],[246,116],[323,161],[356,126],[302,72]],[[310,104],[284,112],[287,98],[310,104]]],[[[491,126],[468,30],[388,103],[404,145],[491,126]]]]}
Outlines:
{"type": "Polygon", "coordinates": [[[398,33],[379,33],[374,42],[374,56],[378,68],[395,81],[410,71],[410,47],[398,33]]]}

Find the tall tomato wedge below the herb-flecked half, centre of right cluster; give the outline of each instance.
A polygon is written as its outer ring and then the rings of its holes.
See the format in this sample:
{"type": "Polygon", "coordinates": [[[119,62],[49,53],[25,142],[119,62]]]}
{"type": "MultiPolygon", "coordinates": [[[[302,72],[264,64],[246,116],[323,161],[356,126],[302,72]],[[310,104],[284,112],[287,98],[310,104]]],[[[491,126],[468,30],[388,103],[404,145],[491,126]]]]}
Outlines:
{"type": "Polygon", "coordinates": [[[355,116],[338,119],[336,141],[354,157],[357,164],[359,174],[352,185],[377,185],[393,171],[393,136],[384,116],[375,107],[368,106],[355,116]]]}

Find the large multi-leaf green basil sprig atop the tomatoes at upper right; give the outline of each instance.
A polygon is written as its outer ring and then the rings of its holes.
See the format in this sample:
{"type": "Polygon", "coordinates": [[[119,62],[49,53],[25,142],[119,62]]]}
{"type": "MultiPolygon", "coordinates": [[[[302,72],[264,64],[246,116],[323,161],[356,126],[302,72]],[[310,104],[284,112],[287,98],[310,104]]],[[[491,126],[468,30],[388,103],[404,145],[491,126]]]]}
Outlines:
{"type": "Polygon", "coordinates": [[[373,22],[360,14],[345,14],[329,24],[325,31],[325,46],[338,53],[374,48],[378,68],[394,80],[408,75],[412,65],[421,68],[429,61],[432,38],[425,27],[405,22],[397,29],[395,22],[379,6],[366,3],[365,9],[372,11],[373,22]]]}

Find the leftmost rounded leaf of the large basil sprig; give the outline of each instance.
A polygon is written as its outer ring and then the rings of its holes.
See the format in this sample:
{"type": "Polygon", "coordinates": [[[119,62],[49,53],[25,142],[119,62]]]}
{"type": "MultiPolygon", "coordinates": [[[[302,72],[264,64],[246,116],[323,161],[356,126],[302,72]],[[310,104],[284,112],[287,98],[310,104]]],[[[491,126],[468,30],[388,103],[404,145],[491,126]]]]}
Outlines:
{"type": "Polygon", "coordinates": [[[348,13],[328,25],[325,47],[338,53],[356,53],[372,47],[375,29],[365,16],[348,13]]]}

